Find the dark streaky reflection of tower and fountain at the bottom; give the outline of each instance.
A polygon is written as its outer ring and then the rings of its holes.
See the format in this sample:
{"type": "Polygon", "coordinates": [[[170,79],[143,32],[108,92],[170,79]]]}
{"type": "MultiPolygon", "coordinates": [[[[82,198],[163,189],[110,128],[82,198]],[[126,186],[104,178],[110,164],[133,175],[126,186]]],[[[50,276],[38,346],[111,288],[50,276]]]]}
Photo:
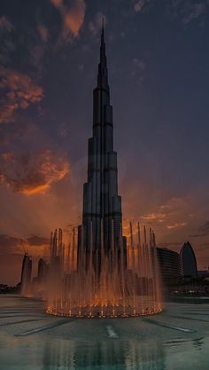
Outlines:
{"type": "Polygon", "coordinates": [[[163,347],[158,342],[109,340],[46,342],[43,370],[120,369],[164,370],[163,347]]]}

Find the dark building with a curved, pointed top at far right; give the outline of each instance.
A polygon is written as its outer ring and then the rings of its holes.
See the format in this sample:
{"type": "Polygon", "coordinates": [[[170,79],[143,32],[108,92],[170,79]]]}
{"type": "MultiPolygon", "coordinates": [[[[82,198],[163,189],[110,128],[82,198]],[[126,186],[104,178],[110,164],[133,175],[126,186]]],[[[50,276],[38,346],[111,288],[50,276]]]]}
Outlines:
{"type": "Polygon", "coordinates": [[[180,255],[182,258],[183,276],[197,278],[197,260],[189,241],[183,244],[180,255]]]}

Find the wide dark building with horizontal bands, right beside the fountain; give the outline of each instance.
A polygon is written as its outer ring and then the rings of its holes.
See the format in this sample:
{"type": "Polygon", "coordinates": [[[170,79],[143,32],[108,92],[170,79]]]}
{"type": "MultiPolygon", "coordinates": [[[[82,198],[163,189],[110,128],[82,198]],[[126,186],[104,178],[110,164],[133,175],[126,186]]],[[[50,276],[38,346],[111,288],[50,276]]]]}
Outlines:
{"type": "Polygon", "coordinates": [[[182,277],[182,260],[179,253],[168,248],[157,248],[157,256],[164,282],[182,277]]]}

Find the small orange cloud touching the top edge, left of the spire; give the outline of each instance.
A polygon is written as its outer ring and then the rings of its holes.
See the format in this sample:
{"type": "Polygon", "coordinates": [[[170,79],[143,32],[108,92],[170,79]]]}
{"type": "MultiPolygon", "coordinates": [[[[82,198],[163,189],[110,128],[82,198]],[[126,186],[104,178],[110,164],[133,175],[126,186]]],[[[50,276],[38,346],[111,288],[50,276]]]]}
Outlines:
{"type": "Polygon", "coordinates": [[[84,0],[73,0],[64,4],[63,0],[50,0],[62,18],[62,36],[67,41],[71,36],[77,37],[82,27],[86,4],[84,0]]]}

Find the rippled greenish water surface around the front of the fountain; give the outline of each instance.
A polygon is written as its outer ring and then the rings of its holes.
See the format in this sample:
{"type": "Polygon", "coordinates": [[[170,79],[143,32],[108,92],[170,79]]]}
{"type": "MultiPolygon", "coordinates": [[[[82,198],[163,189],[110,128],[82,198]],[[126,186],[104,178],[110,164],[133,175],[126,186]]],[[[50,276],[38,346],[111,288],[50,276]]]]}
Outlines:
{"type": "Polygon", "coordinates": [[[208,370],[209,305],[173,303],[144,319],[62,319],[0,296],[1,370],[208,370]]]}

